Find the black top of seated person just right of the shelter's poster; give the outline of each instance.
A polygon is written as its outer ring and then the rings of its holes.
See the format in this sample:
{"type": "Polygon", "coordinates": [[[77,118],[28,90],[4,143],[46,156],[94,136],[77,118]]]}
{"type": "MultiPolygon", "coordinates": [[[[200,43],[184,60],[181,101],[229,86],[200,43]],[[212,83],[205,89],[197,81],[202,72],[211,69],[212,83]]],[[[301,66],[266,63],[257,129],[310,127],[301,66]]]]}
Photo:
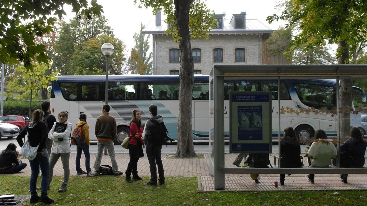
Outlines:
{"type": "Polygon", "coordinates": [[[280,166],[282,168],[300,168],[302,167],[301,146],[299,141],[291,137],[282,137],[280,140],[280,166]]]}

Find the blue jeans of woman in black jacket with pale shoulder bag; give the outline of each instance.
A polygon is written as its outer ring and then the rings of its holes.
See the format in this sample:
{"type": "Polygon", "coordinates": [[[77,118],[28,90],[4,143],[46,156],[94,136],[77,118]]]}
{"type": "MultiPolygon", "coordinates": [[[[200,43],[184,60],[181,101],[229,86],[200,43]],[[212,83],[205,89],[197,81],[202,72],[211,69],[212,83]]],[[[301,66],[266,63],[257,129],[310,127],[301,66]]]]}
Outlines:
{"type": "Polygon", "coordinates": [[[49,169],[48,169],[48,153],[47,149],[42,149],[43,154],[37,154],[36,158],[29,161],[30,165],[30,183],[29,190],[30,196],[37,195],[37,178],[39,174],[38,167],[41,167],[42,170],[42,181],[41,181],[41,196],[47,196],[48,189],[48,177],[49,177],[49,169]]]}

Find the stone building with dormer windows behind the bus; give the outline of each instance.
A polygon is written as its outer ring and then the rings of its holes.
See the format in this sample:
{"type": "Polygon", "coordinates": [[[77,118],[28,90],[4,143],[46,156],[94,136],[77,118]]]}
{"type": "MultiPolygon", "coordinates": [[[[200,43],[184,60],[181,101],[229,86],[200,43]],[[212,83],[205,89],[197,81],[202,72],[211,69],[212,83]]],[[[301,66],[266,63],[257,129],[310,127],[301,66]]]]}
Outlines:
{"type": "MultiPolygon", "coordinates": [[[[153,75],[178,75],[178,44],[164,33],[167,25],[158,11],[156,21],[150,21],[143,30],[153,36],[153,75]]],[[[213,65],[287,64],[283,55],[269,56],[265,41],[273,30],[257,19],[246,19],[246,12],[215,15],[217,28],[209,31],[209,39],[191,39],[194,73],[208,75],[213,65]]]]}

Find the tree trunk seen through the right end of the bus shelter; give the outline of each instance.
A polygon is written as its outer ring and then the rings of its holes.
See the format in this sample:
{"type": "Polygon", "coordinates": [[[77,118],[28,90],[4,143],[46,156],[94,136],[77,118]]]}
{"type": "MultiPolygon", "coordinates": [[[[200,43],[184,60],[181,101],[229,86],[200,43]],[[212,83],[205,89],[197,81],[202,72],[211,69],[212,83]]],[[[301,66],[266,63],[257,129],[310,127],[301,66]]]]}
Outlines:
{"type": "MultiPolygon", "coordinates": [[[[342,56],[338,59],[340,65],[349,64],[346,59],[349,58],[349,48],[345,41],[339,41],[339,49],[344,49],[342,56]]],[[[347,108],[352,106],[352,86],[353,82],[351,79],[340,79],[339,87],[339,108],[347,108]]],[[[340,113],[339,119],[339,131],[340,137],[349,136],[350,133],[350,111],[340,113]]]]}

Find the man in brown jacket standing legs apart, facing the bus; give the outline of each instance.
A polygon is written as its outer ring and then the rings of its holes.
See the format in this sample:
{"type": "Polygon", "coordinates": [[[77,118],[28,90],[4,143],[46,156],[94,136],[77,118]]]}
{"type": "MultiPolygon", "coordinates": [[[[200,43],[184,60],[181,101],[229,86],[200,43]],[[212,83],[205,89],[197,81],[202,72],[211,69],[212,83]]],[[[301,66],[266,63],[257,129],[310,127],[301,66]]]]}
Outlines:
{"type": "Polygon", "coordinates": [[[111,158],[112,170],[114,175],[121,175],[123,172],[119,170],[115,159],[115,147],[113,141],[116,140],[117,126],[116,119],[108,112],[110,106],[105,104],[102,106],[102,115],[95,122],[95,136],[97,137],[98,150],[97,157],[94,162],[94,175],[99,175],[99,166],[101,165],[103,149],[106,147],[111,158]]]}

